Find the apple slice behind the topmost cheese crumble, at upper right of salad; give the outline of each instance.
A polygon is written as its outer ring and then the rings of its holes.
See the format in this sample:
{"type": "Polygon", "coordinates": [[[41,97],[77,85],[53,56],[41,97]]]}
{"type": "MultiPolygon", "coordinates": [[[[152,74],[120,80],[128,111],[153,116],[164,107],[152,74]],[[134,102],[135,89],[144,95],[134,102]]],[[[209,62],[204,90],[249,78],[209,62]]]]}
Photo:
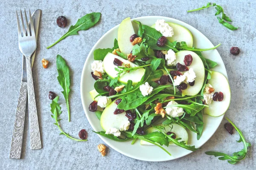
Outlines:
{"type": "MultiPolygon", "coordinates": [[[[179,24],[176,23],[170,23],[170,22],[166,22],[169,24],[169,26],[172,27],[174,35],[172,37],[167,37],[167,39],[170,42],[181,42],[181,41],[185,41],[187,46],[192,48],[193,47],[193,35],[191,34],[191,32],[188,30],[188,28],[181,26],[179,24]]],[[[155,24],[153,26],[151,26],[152,28],[155,28],[155,24]]]]}

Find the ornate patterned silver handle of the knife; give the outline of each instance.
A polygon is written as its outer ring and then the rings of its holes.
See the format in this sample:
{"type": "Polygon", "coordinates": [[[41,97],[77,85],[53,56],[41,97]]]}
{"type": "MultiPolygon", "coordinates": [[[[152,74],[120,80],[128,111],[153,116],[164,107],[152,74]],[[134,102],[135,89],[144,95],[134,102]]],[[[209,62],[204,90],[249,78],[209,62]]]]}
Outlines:
{"type": "Polygon", "coordinates": [[[15,122],[12,133],[12,143],[10,150],[10,159],[20,159],[22,142],[23,142],[23,131],[24,121],[26,113],[26,96],[27,96],[27,82],[21,82],[20,93],[18,98],[17,110],[15,113],[15,122]]]}

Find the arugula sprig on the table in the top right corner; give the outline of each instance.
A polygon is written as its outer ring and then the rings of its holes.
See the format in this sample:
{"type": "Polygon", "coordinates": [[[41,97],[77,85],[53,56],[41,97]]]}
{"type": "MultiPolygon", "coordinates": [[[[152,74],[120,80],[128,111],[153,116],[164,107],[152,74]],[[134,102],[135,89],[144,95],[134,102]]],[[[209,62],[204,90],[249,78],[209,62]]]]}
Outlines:
{"type": "Polygon", "coordinates": [[[222,13],[221,18],[220,18],[220,17],[217,17],[219,23],[221,23],[223,26],[227,27],[228,29],[230,29],[230,30],[232,30],[232,31],[238,29],[238,27],[235,27],[235,26],[231,25],[230,23],[227,23],[227,22],[224,21],[224,20],[226,20],[226,21],[228,21],[228,22],[232,22],[232,20],[230,20],[230,18],[227,17],[226,14],[224,14],[223,8],[222,8],[221,6],[219,6],[219,5],[216,5],[216,3],[213,3],[212,5],[211,5],[211,3],[207,3],[207,6],[203,6],[203,7],[198,8],[198,9],[189,10],[189,11],[187,11],[187,12],[199,11],[199,10],[201,10],[201,9],[209,8],[209,7],[211,7],[211,6],[215,6],[215,9],[217,10],[217,12],[215,13],[215,16],[222,13]]]}

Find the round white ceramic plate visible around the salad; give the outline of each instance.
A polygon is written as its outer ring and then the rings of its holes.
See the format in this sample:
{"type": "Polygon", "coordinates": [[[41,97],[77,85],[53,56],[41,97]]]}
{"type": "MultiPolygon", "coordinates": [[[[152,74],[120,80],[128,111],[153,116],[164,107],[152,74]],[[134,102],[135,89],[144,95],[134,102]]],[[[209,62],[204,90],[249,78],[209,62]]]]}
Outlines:
{"type": "MultiPolygon", "coordinates": [[[[182,21],[175,20],[173,18],[169,17],[160,17],[160,16],[148,16],[148,17],[138,17],[134,18],[133,20],[138,20],[144,25],[151,26],[153,25],[157,19],[164,19],[166,22],[172,22],[177,23],[182,26],[185,26],[188,28],[194,37],[194,44],[193,46],[197,48],[211,48],[214,45],[205,37],[200,31],[195,29],[192,26],[189,26],[186,23],[183,23],[182,21]]],[[[93,127],[93,130],[95,131],[101,131],[102,127],[100,125],[99,119],[96,117],[96,115],[93,112],[90,112],[88,110],[88,107],[90,103],[92,102],[92,99],[90,97],[89,91],[93,90],[93,83],[94,79],[91,77],[91,68],[90,64],[93,62],[93,51],[97,48],[113,48],[113,42],[114,39],[117,39],[117,30],[118,26],[115,26],[111,30],[109,30],[106,34],[104,34],[99,41],[93,46],[92,50],[90,51],[85,63],[84,68],[81,75],[81,100],[82,105],[84,108],[85,115],[90,122],[90,125],[93,127]]],[[[136,24],[134,24],[135,29],[137,29],[136,24]]],[[[136,30],[135,30],[136,32],[136,30]]],[[[217,44],[215,44],[217,45],[217,44]]],[[[218,65],[212,69],[214,71],[218,71],[224,76],[227,77],[227,72],[224,66],[224,63],[221,59],[220,54],[218,51],[210,50],[203,52],[204,57],[212,59],[213,61],[217,62],[218,65]]],[[[210,137],[215,133],[218,126],[221,123],[221,120],[223,119],[224,115],[219,117],[211,117],[208,115],[204,115],[204,130],[203,134],[200,138],[200,140],[196,139],[196,134],[192,133],[190,130],[188,130],[189,133],[189,145],[195,145],[195,147],[201,147],[205,142],[207,142],[210,137]]],[[[107,139],[103,136],[99,137],[110,147],[112,147],[114,150],[118,151],[119,153],[122,153],[126,156],[129,156],[134,159],[139,159],[143,161],[169,161],[173,159],[180,158],[182,156],[186,156],[189,153],[192,153],[190,150],[186,150],[182,147],[178,146],[164,146],[171,154],[172,156],[169,156],[166,152],[164,152],[161,148],[157,146],[146,146],[146,145],[140,145],[140,141],[138,140],[135,144],[131,145],[131,141],[128,142],[116,142],[111,139],[107,139]]]]}

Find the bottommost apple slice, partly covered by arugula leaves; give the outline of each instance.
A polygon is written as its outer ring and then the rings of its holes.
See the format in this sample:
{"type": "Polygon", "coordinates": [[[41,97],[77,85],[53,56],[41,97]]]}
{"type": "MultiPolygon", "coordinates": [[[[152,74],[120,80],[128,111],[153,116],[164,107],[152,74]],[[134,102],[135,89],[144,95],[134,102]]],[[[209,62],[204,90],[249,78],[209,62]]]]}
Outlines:
{"type": "MultiPolygon", "coordinates": [[[[157,126],[162,126],[162,124],[157,125],[157,126]]],[[[167,132],[173,132],[176,134],[176,138],[181,138],[180,140],[178,140],[179,142],[184,141],[186,144],[188,142],[188,133],[186,131],[186,129],[184,129],[182,126],[178,125],[178,124],[172,124],[169,126],[166,126],[165,129],[163,130],[163,132],[167,133],[167,132]]],[[[157,132],[157,130],[154,127],[149,127],[148,130],[146,130],[146,133],[152,133],[152,132],[157,132]]],[[[149,142],[145,142],[143,140],[140,140],[140,144],[141,145],[154,145],[151,144],[149,142]]],[[[169,145],[176,145],[172,142],[169,143],[169,145]]]]}

